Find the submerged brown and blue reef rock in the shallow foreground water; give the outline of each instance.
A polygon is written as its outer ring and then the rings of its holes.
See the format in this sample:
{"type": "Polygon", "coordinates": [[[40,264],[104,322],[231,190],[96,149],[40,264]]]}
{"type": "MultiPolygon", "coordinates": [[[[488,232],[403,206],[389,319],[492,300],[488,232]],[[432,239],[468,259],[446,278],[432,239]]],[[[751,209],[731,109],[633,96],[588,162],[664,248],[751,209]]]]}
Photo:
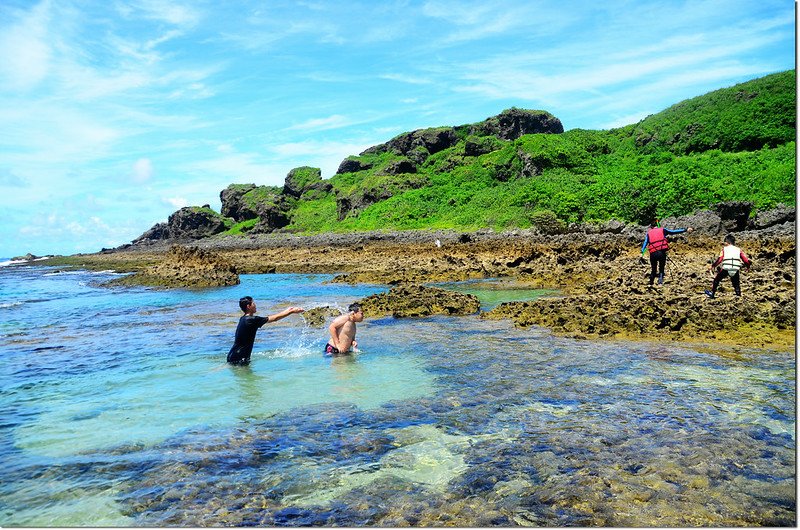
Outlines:
{"type": "MultiPolygon", "coordinates": [[[[434,396],[177,436],[123,501],[143,526],[792,524],[793,444],[743,420],[709,423],[721,412],[706,408],[707,387],[684,388],[687,377],[713,380],[724,361],[704,368],[708,358],[672,352],[642,373],[637,364],[650,365],[636,354],[633,366],[605,365],[610,349],[571,347],[574,364],[548,353],[560,366],[544,378],[527,355],[447,355],[433,359],[443,373],[434,396]],[[659,368],[675,372],[665,388],[650,381],[659,368]],[[620,370],[624,383],[593,379],[620,370]]],[[[726,396],[741,392],[731,375],[718,378],[726,396]]]]}

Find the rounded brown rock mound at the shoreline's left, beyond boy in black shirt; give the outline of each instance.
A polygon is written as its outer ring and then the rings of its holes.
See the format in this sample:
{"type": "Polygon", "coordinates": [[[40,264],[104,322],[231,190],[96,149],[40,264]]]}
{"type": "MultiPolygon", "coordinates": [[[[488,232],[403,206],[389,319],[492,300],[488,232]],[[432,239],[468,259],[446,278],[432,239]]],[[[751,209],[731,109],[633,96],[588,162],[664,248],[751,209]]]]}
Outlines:
{"type": "Polygon", "coordinates": [[[221,287],[238,285],[239,275],[228,260],[197,247],[173,245],[163,260],[110,285],[152,287],[221,287]]]}

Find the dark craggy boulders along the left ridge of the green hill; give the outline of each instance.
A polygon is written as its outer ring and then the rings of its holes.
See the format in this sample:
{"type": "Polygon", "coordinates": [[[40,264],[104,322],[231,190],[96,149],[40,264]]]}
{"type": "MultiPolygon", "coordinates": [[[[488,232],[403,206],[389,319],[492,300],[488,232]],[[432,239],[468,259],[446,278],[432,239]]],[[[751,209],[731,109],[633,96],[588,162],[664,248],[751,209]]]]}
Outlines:
{"type": "MultiPolygon", "coordinates": [[[[511,108],[483,122],[456,127],[435,127],[403,133],[390,141],[370,147],[359,154],[392,152],[402,158],[385,170],[389,175],[414,175],[418,167],[433,154],[453,147],[459,142],[459,134],[469,138],[466,154],[477,156],[497,148],[498,142],[516,140],[526,134],[564,132],[561,121],[552,114],[540,110],[511,108]]],[[[358,157],[347,157],[339,164],[336,174],[354,173],[369,169],[358,157]]],[[[419,186],[413,178],[405,183],[411,188],[419,186]]],[[[166,223],[157,223],[132,244],[148,245],[153,242],[189,242],[205,239],[225,232],[231,225],[258,219],[248,230],[250,234],[266,234],[289,224],[288,212],[294,201],[302,197],[314,197],[315,193],[330,193],[330,182],[322,179],[319,168],[298,167],[289,171],[283,188],[256,186],[255,184],[231,184],[220,192],[222,207],[217,213],[208,204],[202,207],[181,208],[166,223]]],[[[392,196],[389,190],[365,190],[356,194],[337,194],[336,207],[339,219],[349,213],[361,211],[392,196]]],[[[124,245],[127,247],[128,245],[124,245]]]]}

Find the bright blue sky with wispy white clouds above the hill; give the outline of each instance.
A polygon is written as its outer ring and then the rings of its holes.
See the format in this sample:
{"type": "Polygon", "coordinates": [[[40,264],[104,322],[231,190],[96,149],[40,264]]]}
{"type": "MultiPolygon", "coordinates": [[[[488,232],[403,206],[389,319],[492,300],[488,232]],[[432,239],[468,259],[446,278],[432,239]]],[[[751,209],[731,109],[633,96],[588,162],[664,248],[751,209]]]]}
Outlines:
{"type": "Polygon", "coordinates": [[[788,0],[3,0],[0,256],[115,247],[511,106],[635,123],[794,68],[794,31],[788,0]]]}

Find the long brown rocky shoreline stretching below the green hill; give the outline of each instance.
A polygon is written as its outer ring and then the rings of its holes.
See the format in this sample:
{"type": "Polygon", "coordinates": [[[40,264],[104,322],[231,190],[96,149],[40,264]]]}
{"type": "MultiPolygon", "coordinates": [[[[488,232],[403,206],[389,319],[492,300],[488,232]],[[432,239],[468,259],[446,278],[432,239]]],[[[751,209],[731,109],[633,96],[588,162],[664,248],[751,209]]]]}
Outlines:
{"type": "MultiPolygon", "coordinates": [[[[735,231],[754,261],[743,273],[742,297],[723,281],[706,298],[708,263],[728,232],[724,219],[665,220],[693,226],[672,239],[663,287],[648,288],[649,264],[640,260],[645,228],[606,223],[561,234],[538,230],[463,233],[449,230],[349,234],[259,234],[187,242],[212,253],[239,273],[332,273],[333,281],[394,287],[479,278],[504,278],[517,286],[551,288],[558,295],[501,304],[481,318],[510,319],[577,338],[708,342],[793,349],[796,327],[794,210],[774,224],[735,231]]],[[[140,271],[164,261],[175,242],[158,242],[98,254],[54,258],[52,263],[140,271]]],[[[169,269],[173,270],[173,269],[169,269]]],[[[402,297],[393,297],[398,304],[402,297]]],[[[430,305],[430,304],[429,304],[430,305]]],[[[433,307],[432,305],[430,305],[433,307]]],[[[382,313],[393,309],[382,303],[382,313]]],[[[406,309],[408,311],[408,309],[406,309]]],[[[467,311],[469,313],[469,311],[467,311]]],[[[402,315],[402,311],[398,315],[402,315]]],[[[422,314],[412,309],[412,315],[422,314]]]]}

